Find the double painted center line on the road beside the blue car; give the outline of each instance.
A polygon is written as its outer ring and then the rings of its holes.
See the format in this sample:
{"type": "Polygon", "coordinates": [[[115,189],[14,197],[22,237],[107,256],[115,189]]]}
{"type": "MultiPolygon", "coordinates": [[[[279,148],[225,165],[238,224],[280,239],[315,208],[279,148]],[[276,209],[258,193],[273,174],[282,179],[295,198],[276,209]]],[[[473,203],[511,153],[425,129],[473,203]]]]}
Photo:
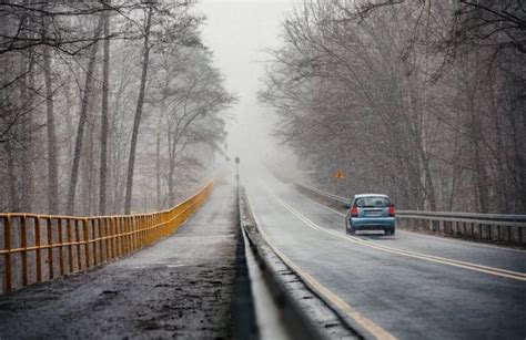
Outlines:
{"type": "Polygon", "coordinates": [[[392,254],[397,254],[397,255],[402,255],[402,256],[406,256],[406,257],[424,259],[424,260],[427,260],[427,261],[443,264],[443,265],[447,265],[447,266],[453,266],[453,267],[475,270],[475,271],[479,271],[479,272],[485,272],[485,274],[489,274],[489,275],[500,276],[500,277],[505,277],[505,278],[516,279],[516,280],[519,280],[519,281],[526,281],[526,274],[524,274],[524,272],[506,270],[506,269],[500,269],[500,268],[494,268],[494,267],[488,267],[488,266],[482,266],[482,265],[476,265],[476,264],[472,264],[472,262],[465,262],[465,261],[448,259],[448,258],[438,257],[438,256],[432,256],[432,255],[414,253],[414,251],[409,251],[409,250],[402,250],[402,249],[396,249],[396,248],[392,248],[392,247],[387,247],[387,246],[378,246],[378,245],[374,245],[374,244],[364,241],[364,240],[362,240],[361,238],[357,238],[357,237],[346,236],[346,235],[340,234],[337,231],[330,230],[325,227],[318,226],[317,224],[315,224],[314,221],[308,219],[305,215],[301,214],[300,212],[295,210],[290,205],[287,205],[283,200],[281,200],[279,197],[274,196],[274,198],[275,198],[276,202],[279,202],[289,212],[291,212],[294,216],[296,216],[300,220],[305,223],[311,228],[323,231],[323,233],[326,233],[326,234],[330,234],[330,235],[333,235],[335,237],[343,238],[345,240],[348,240],[348,241],[352,241],[352,243],[355,243],[355,244],[358,244],[358,245],[362,245],[362,246],[365,246],[365,247],[370,247],[370,248],[373,248],[373,249],[378,249],[378,250],[383,250],[383,251],[387,251],[387,253],[392,253],[392,254]]]}

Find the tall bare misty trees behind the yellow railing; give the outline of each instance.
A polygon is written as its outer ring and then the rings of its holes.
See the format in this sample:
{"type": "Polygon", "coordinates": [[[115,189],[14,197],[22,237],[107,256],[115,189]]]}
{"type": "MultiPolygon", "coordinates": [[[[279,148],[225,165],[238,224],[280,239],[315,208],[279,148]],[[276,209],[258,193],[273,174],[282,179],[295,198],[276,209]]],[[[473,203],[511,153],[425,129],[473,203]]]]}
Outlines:
{"type": "Polygon", "coordinates": [[[0,3],[0,210],[129,214],[204,184],[235,97],[192,7],[0,3]]]}

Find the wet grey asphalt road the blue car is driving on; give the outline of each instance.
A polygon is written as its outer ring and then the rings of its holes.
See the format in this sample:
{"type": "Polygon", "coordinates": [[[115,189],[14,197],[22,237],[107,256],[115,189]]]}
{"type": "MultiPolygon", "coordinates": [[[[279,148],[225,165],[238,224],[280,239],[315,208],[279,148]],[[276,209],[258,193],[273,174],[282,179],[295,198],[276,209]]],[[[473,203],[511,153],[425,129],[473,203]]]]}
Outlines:
{"type": "Polygon", "coordinates": [[[273,245],[393,337],[526,338],[526,281],[449,261],[524,275],[526,251],[402,230],[395,236],[358,234],[353,241],[344,234],[341,215],[277,182],[266,171],[244,168],[242,181],[260,226],[273,245]],[[416,256],[404,256],[396,249],[416,256]],[[426,256],[446,260],[431,261],[426,256]]]}

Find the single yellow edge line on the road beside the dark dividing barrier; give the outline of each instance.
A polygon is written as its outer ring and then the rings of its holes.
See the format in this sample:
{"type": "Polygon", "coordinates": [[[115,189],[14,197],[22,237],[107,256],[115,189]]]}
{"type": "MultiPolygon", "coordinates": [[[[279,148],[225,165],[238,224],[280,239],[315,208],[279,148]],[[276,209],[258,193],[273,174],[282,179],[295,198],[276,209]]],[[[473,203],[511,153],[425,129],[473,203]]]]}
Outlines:
{"type": "MultiPolygon", "coordinates": [[[[351,319],[353,319],[356,323],[361,327],[366,329],[373,337],[381,340],[396,340],[396,338],[384,330],[382,327],[374,323],[372,320],[367,319],[366,317],[362,316],[358,311],[352,308],[347,302],[345,302],[342,298],[340,298],[336,293],[331,291],[328,288],[320,284],[316,279],[314,279],[311,275],[305,272],[301,267],[299,267],[295,262],[293,262],[289,257],[286,257],[279,248],[276,248],[269,239],[266,233],[261,227],[261,223],[259,221],[254,210],[252,209],[253,205],[250,199],[249,190],[246,189],[246,198],[249,200],[249,207],[251,209],[252,216],[256,223],[257,230],[260,231],[261,236],[272,248],[272,250],[277,255],[277,257],[289,267],[291,268],[297,276],[302,278],[302,280],[314,291],[318,295],[323,296],[325,299],[330,300],[334,306],[336,306],[342,312],[346,313],[351,319]]],[[[286,207],[285,207],[286,208],[286,207]]],[[[296,216],[297,217],[297,216],[296,216]]]]}

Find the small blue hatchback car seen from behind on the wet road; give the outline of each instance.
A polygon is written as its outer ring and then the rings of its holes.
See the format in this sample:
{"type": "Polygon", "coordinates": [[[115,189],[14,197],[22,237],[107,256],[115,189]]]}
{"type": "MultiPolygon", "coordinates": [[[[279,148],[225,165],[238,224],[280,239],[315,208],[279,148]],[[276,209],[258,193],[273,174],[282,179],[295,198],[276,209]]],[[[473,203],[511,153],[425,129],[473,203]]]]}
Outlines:
{"type": "Polygon", "coordinates": [[[354,195],[345,215],[345,231],[354,235],[358,230],[384,230],[395,234],[395,208],[390,197],[378,194],[354,195]]]}

